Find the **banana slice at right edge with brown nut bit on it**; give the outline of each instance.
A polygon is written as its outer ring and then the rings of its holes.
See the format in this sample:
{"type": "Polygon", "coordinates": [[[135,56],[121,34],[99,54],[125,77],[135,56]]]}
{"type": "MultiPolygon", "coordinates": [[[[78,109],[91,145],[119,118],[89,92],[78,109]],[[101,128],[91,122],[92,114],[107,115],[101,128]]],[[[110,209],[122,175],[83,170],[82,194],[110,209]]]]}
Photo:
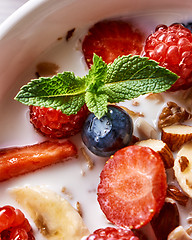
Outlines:
{"type": "Polygon", "coordinates": [[[173,169],[183,191],[192,197],[192,142],[186,143],[180,149],[173,169]]]}

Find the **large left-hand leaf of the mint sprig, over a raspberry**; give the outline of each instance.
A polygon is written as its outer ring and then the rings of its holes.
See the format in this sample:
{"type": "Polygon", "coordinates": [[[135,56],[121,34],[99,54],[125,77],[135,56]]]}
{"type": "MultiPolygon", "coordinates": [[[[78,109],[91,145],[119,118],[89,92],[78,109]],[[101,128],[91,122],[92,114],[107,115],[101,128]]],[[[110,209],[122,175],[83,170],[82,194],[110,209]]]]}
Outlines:
{"type": "Polygon", "coordinates": [[[63,113],[76,114],[85,103],[85,77],[59,73],[52,78],[34,79],[23,86],[15,97],[26,105],[52,107],[63,113]]]}

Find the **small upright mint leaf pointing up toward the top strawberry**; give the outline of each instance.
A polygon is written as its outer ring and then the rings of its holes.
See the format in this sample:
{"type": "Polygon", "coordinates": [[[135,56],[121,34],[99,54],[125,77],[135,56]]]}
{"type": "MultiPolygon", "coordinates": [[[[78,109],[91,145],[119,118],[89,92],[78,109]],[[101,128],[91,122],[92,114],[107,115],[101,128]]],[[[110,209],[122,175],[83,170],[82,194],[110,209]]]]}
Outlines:
{"type": "Polygon", "coordinates": [[[96,54],[93,55],[93,65],[86,76],[86,91],[96,93],[98,88],[104,85],[107,77],[107,64],[102,60],[101,57],[96,54]]]}

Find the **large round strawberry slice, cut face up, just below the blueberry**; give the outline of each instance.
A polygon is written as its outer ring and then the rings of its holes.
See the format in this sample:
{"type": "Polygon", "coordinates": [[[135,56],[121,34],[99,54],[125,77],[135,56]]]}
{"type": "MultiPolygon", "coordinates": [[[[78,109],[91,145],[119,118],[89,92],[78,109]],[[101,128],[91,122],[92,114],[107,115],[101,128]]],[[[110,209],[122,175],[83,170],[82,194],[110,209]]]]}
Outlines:
{"type": "Polygon", "coordinates": [[[117,151],[100,175],[98,202],[118,227],[138,229],[163,206],[167,182],[160,155],[148,147],[117,151]]]}

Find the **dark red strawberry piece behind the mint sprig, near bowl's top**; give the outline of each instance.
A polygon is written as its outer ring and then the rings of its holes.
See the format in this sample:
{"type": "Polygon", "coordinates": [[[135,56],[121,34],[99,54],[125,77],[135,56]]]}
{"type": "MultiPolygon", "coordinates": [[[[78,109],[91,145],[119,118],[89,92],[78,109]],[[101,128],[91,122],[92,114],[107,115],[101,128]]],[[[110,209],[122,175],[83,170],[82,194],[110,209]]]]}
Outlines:
{"type": "Polygon", "coordinates": [[[102,21],[89,29],[82,44],[86,63],[92,65],[93,53],[106,63],[113,62],[122,55],[139,55],[142,51],[144,36],[130,23],[123,21],[102,21]]]}

